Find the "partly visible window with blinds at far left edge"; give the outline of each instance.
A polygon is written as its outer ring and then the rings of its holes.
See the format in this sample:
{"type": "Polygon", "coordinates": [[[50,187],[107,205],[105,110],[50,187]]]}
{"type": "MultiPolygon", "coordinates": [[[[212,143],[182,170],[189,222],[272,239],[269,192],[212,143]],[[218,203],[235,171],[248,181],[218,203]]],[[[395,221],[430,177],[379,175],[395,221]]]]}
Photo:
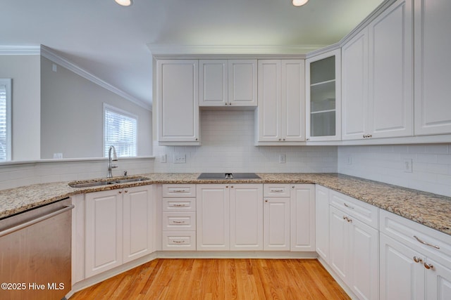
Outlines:
{"type": "Polygon", "coordinates": [[[0,79],[0,162],[11,160],[11,79],[0,79]]]}

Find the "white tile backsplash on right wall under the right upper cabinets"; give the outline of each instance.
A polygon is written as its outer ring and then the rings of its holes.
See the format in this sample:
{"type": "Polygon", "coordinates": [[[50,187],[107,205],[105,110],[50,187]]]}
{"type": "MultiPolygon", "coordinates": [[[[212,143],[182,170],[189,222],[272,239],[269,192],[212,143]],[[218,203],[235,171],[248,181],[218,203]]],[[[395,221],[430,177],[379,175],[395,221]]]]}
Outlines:
{"type": "Polygon", "coordinates": [[[341,146],[338,172],[451,197],[451,144],[341,146]]]}

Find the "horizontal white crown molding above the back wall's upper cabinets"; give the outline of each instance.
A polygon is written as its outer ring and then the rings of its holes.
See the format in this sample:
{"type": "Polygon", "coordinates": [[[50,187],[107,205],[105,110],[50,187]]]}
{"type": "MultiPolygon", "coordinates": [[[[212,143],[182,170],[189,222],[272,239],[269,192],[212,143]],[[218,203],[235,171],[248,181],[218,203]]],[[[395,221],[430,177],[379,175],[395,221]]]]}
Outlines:
{"type": "Polygon", "coordinates": [[[323,46],[147,44],[153,56],[304,56],[323,46]]]}

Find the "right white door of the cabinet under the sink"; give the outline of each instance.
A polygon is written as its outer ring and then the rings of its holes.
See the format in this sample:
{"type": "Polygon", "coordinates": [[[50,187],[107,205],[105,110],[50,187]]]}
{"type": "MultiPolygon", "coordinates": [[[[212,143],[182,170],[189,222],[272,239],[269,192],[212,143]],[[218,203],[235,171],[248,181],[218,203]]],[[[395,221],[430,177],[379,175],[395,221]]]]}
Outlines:
{"type": "Polygon", "coordinates": [[[153,252],[152,185],[123,190],[123,263],[153,252]]]}

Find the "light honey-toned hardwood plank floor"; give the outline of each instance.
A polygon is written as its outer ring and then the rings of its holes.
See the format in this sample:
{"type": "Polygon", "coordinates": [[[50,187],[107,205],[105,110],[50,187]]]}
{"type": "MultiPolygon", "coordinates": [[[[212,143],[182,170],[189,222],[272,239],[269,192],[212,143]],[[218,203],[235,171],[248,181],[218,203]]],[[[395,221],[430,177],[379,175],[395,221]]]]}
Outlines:
{"type": "Polygon", "coordinates": [[[350,299],[316,259],[156,259],[80,299],[350,299]]]}

